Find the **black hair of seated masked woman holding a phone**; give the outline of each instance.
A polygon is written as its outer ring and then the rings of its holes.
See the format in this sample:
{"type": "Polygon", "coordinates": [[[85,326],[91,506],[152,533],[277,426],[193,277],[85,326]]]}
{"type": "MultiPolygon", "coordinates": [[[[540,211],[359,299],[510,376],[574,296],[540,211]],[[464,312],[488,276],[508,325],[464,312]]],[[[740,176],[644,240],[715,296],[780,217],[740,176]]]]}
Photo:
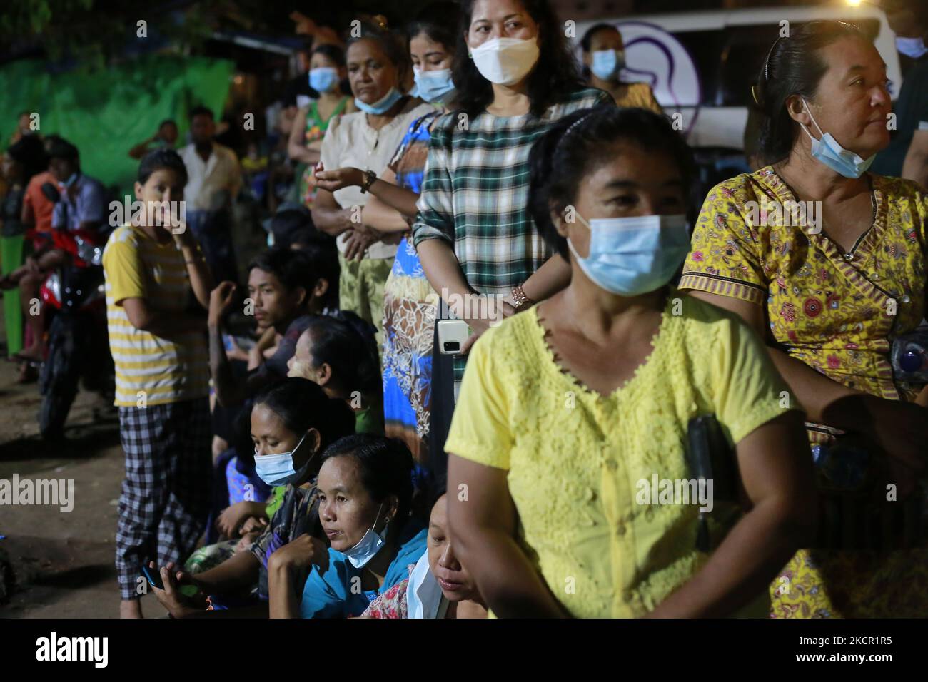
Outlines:
{"type": "Polygon", "coordinates": [[[354,412],[343,400],[333,400],[318,384],[302,377],[275,381],[255,393],[251,405],[267,407],[293,433],[319,431],[322,449],[354,433],[354,412]]]}

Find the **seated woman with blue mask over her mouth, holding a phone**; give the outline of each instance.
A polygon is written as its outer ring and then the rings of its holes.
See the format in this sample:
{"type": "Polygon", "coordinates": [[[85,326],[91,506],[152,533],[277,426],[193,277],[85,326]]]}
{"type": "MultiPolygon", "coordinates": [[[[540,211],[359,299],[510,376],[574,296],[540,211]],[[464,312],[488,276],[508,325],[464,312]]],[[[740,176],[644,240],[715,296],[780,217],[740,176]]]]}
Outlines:
{"type": "MultiPolygon", "coordinates": [[[[318,521],[316,475],[319,454],[342,436],[354,432],[354,417],[342,401],[330,400],[312,381],[279,380],[257,393],[251,408],[251,438],[255,467],[264,483],[285,485],[280,508],[248,551],[238,552],[219,566],[190,575],[174,565],[161,567],[164,589],[155,589],[161,605],[174,618],[202,615],[205,595],[249,595],[267,599],[267,559],[278,547],[304,534],[320,541],[326,537],[318,521]],[[187,598],[180,585],[195,585],[200,595],[187,598]]],[[[154,567],[154,564],[151,564],[154,567]]],[[[303,573],[305,578],[305,573],[303,573]]],[[[259,602],[236,615],[266,615],[259,602]]]]}

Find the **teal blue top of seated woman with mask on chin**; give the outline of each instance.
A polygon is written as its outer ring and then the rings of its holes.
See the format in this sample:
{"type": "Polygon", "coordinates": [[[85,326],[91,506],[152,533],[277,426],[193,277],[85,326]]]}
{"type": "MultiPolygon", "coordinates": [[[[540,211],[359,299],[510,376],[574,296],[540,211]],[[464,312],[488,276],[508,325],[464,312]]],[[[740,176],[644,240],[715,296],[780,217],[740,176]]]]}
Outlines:
{"type": "MultiPolygon", "coordinates": [[[[400,548],[387,569],[380,585],[380,593],[398,585],[409,577],[406,568],[416,563],[426,550],[426,531],[419,521],[409,521],[400,534],[400,548]]],[[[329,570],[319,573],[318,567],[306,578],[303,585],[303,601],[300,604],[302,618],[354,618],[367,609],[379,592],[373,590],[352,591],[352,579],[358,578],[364,569],[356,569],[342,552],[329,547],[329,570]]]]}

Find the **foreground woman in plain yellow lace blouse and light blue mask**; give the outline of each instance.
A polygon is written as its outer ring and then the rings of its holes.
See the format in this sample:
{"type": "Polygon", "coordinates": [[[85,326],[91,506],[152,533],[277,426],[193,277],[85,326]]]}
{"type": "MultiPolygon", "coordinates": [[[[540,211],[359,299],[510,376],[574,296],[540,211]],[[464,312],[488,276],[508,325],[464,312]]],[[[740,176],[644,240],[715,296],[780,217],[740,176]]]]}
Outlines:
{"type": "Polygon", "coordinates": [[[754,332],[668,286],[690,149],[610,106],[556,123],[530,164],[535,225],[573,274],[470,352],[445,444],[461,563],[498,616],[766,616],[815,529],[812,467],[754,332]],[[708,415],[737,470],[701,477],[686,444],[708,415]]]}

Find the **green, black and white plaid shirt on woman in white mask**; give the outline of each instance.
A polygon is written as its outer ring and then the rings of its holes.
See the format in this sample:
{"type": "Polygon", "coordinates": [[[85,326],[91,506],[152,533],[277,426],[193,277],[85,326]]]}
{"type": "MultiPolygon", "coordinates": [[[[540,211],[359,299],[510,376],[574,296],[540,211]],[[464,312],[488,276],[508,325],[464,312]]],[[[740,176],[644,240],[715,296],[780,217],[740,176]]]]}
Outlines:
{"type": "MultiPolygon", "coordinates": [[[[595,88],[578,90],[539,118],[501,118],[483,111],[458,130],[458,113],[432,130],[413,243],[445,239],[454,247],[470,287],[508,294],[541,267],[553,251],[528,212],[528,154],[535,140],[579,109],[612,102],[595,88]]],[[[441,293],[441,292],[439,292],[441,293]]],[[[455,356],[455,377],[466,357],[455,356]]]]}

